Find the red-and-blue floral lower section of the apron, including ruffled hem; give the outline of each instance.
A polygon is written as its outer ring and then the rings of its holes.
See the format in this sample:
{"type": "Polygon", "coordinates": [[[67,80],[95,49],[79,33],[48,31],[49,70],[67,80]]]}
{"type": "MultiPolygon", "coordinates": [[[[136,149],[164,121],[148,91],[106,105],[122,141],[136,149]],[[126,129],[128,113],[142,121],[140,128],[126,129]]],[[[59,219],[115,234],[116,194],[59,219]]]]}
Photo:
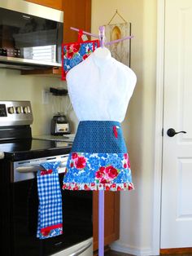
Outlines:
{"type": "Polygon", "coordinates": [[[133,189],[128,153],[72,152],[68,157],[63,189],[133,189]]]}

